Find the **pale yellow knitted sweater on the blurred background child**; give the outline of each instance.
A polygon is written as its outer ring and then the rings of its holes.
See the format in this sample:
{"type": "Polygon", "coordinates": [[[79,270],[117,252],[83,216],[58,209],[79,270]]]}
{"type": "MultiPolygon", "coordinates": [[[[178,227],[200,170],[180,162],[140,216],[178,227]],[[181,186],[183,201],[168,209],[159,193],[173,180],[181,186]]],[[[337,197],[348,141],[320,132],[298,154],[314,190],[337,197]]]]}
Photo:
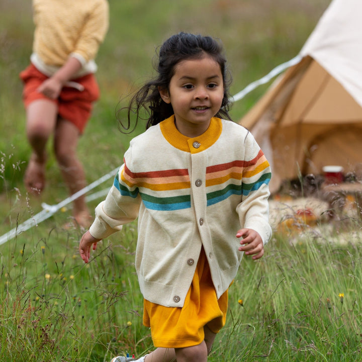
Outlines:
{"type": "MultiPolygon", "coordinates": [[[[31,60],[46,73],[56,71],[69,55],[89,66],[109,26],[107,0],[33,0],[33,16],[31,60]]],[[[94,63],[88,72],[95,70],[94,63]]]]}

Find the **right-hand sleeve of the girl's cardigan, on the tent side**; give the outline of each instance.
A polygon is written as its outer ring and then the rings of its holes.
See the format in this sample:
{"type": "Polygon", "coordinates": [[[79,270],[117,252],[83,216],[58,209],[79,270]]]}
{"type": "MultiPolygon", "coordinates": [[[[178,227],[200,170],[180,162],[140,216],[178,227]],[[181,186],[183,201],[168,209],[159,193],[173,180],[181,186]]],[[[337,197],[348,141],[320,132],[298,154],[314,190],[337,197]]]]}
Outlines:
{"type": "Polygon", "coordinates": [[[240,226],[258,232],[265,244],[272,236],[268,204],[271,172],[268,161],[250,133],[246,138],[244,159],[242,201],[236,211],[240,226]]]}

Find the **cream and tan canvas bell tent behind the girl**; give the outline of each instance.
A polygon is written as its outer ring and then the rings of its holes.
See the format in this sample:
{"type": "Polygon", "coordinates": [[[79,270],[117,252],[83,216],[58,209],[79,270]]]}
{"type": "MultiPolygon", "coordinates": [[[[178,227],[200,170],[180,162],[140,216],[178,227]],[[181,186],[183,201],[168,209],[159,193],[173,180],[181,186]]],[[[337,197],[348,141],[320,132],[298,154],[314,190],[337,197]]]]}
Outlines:
{"type": "Polygon", "coordinates": [[[270,191],[325,165],[362,169],[361,0],[333,0],[300,51],[240,120],[272,166],[270,191]]]}

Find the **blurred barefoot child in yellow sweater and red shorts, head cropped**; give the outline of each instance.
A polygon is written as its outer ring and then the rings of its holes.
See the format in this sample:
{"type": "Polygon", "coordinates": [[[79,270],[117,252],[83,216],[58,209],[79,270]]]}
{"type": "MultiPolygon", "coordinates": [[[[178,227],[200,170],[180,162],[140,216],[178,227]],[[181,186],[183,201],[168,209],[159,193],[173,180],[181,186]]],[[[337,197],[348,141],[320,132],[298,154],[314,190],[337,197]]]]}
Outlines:
{"type": "MultiPolygon", "coordinates": [[[[99,98],[94,59],[108,29],[108,12],[106,0],[33,0],[33,53],[20,73],[32,147],[24,177],[30,193],[39,195],[45,187],[46,143],[52,134],[70,194],[86,186],[76,147],[99,98]]],[[[91,224],[84,196],[74,201],[73,216],[80,226],[91,224]]]]}

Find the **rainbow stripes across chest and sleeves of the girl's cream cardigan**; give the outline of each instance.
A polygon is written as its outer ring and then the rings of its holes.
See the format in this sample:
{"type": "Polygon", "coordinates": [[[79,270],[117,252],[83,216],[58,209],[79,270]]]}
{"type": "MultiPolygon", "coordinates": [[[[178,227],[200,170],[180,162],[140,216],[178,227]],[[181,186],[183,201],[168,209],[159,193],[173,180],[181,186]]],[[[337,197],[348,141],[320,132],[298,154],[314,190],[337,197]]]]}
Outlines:
{"type": "MultiPolygon", "coordinates": [[[[271,176],[268,167],[269,163],[260,149],[248,161],[234,160],[207,166],[207,206],[232,195],[247,197],[261,185],[268,184],[271,176]]],[[[114,186],[122,196],[136,198],[140,195],[147,209],[170,211],[191,208],[191,180],[187,168],[132,172],[125,160],[121,180],[116,177],[114,186]],[[168,196],[169,192],[174,196],[168,196]]]]}

